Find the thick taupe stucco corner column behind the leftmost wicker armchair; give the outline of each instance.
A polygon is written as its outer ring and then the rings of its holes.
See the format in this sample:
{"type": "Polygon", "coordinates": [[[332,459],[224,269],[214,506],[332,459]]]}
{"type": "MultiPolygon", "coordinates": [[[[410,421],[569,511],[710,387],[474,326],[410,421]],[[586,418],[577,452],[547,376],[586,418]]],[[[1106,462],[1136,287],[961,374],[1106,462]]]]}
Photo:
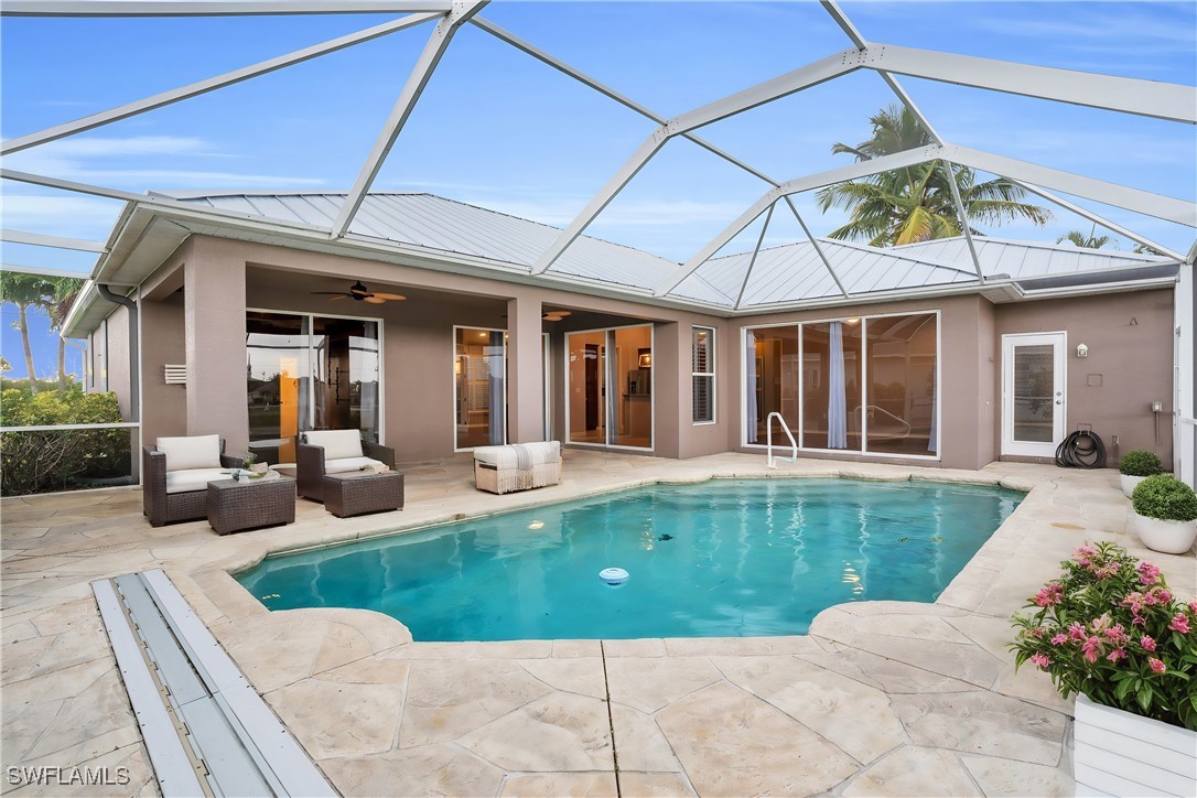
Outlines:
{"type": "Polygon", "coordinates": [[[187,434],[220,434],[230,452],[249,451],[245,403],[245,262],[198,240],[183,266],[187,434]]]}

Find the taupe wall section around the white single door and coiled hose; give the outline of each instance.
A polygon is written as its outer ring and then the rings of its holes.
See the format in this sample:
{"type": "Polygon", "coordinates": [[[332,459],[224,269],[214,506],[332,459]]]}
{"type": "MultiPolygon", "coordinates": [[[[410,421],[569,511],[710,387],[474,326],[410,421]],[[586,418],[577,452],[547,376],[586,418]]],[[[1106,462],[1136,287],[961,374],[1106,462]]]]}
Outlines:
{"type": "MultiPolygon", "coordinates": [[[[998,305],[996,333],[1001,343],[1014,333],[1067,331],[1067,430],[1092,424],[1110,465],[1119,453],[1147,449],[1171,468],[1173,303],[1166,288],[998,305]],[[1078,343],[1089,347],[1088,358],[1076,357],[1078,343]],[[1155,400],[1163,403],[1159,418],[1149,409],[1155,400]]],[[[991,428],[999,446],[1001,427],[991,428]]]]}

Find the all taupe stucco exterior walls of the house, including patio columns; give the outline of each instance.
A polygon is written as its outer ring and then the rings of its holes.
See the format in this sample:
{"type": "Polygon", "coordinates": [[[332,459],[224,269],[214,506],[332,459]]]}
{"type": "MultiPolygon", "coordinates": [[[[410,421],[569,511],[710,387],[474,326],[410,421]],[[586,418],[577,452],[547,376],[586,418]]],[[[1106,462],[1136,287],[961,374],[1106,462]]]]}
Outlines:
{"type": "MultiPolygon", "coordinates": [[[[1069,346],[1074,348],[1068,360],[1069,428],[1082,421],[1093,424],[1111,455],[1116,453],[1112,435],[1118,435],[1118,451],[1153,449],[1166,462],[1172,456],[1168,416],[1173,401],[1172,358],[1171,351],[1166,351],[1172,340],[1171,291],[1005,305],[994,305],[980,296],[968,294],[725,319],[591,297],[581,291],[198,236],[156,273],[146,293],[141,317],[146,440],[163,434],[219,432],[230,441],[230,449],[247,447],[247,307],[379,319],[383,440],[395,447],[400,461],[445,457],[455,451],[454,327],[510,330],[512,309],[517,317],[523,317],[524,337],[522,345],[517,345],[519,351],[509,353],[514,368],[519,368],[521,361],[527,365],[539,360],[540,330],[548,333],[546,368],[551,437],[561,441],[566,439],[567,426],[565,334],[651,324],[655,397],[651,453],[679,458],[728,450],[760,451],[742,446],[745,353],[741,331],[745,327],[937,311],[941,457],[938,461],[918,459],[920,464],[974,469],[997,459],[1001,456],[1001,336],[1059,329],[1068,330],[1069,346]],[[311,294],[312,291],[340,288],[352,280],[385,286],[409,298],[373,305],[351,300],[330,303],[327,297],[311,294]],[[180,294],[177,287],[184,291],[180,294]],[[548,309],[570,309],[573,315],[537,328],[533,316],[539,318],[548,309]],[[1135,325],[1130,325],[1131,317],[1136,319],[1135,325]],[[694,425],[691,416],[693,325],[716,330],[715,424],[694,425]],[[1090,347],[1090,355],[1084,361],[1075,358],[1075,345],[1082,340],[1090,347]],[[536,345],[531,346],[531,341],[536,345]],[[1146,352],[1159,355],[1143,357],[1146,352]],[[187,389],[165,385],[163,366],[183,361],[192,368],[192,384],[187,389]],[[208,374],[198,383],[194,380],[196,367],[208,374]],[[1090,373],[1102,374],[1100,388],[1088,384],[1090,373]],[[1147,409],[1152,400],[1165,403],[1159,439],[1155,420],[1147,409]]],[[[123,329],[115,316],[109,318],[108,328],[109,335],[123,329]]],[[[93,345],[93,348],[99,346],[93,345]]],[[[515,374],[509,374],[509,402],[518,407],[512,410],[517,424],[512,425],[511,440],[539,439],[541,424],[529,421],[541,418],[543,383],[539,368],[530,376],[524,373],[522,382],[512,377],[515,374]],[[534,400],[528,401],[529,396],[534,400]]],[[[819,457],[912,462],[892,455],[820,453],[819,457]]]]}

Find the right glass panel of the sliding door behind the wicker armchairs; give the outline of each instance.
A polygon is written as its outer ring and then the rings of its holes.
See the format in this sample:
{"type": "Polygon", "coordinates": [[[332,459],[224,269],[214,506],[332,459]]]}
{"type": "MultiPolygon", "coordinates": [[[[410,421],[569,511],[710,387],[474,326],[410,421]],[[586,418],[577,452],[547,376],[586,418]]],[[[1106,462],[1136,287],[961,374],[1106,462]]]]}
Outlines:
{"type": "Polygon", "coordinates": [[[378,323],[312,318],[312,427],[378,440],[378,323]]]}

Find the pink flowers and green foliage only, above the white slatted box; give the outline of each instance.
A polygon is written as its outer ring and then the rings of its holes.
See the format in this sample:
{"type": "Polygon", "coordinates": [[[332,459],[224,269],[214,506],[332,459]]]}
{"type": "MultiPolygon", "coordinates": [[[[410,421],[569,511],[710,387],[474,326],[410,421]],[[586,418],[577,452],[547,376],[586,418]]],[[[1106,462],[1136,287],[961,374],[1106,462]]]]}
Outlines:
{"type": "Polygon", "coordinates": [[[1067,699],[1197,730],[1197,602],[1113,543],[1082,546],[1015,614],[1015,666],[1046,671],[1067,699]],[[1026,609],[1025,608],[1025,609],[1026,609]]]}

